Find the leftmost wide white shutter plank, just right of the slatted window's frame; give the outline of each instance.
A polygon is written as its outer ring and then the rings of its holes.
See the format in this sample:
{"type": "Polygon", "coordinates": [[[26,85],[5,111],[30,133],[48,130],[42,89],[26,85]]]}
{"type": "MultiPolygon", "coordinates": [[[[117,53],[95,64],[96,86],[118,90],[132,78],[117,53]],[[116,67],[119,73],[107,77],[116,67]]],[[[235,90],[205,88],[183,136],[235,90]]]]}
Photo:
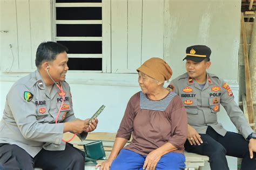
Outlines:
{"type": "Polygon", "coordinates": [[[111,1],[111,70],[127,67],[127,0],[111,1]]]}

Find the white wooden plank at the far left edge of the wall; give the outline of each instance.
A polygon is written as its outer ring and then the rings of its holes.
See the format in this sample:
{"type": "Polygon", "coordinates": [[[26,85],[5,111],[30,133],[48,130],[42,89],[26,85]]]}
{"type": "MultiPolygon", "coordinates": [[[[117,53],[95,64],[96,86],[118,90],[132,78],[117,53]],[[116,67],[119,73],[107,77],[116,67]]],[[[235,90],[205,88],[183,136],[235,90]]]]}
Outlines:
{"type": "Polygon", "coordinates": [[[19,55],[15,0],[0,1],[0,20],[0,68],[11,72],[18,69],[19,55]]]}

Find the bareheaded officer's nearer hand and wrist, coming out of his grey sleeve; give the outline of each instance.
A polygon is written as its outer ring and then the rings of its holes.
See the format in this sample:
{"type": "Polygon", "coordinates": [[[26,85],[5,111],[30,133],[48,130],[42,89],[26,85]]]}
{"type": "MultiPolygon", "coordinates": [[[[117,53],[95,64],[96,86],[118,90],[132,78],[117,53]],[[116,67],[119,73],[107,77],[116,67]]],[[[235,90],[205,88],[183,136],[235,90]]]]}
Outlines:
{"type": "Polygon", "coordinates": [[[75,121],[65,122],[64,123],[64,133],[72,132],[72,133],[82,133],[89,128],[89,125],[86,124],[85,121],[76,119],[75,121]]]}

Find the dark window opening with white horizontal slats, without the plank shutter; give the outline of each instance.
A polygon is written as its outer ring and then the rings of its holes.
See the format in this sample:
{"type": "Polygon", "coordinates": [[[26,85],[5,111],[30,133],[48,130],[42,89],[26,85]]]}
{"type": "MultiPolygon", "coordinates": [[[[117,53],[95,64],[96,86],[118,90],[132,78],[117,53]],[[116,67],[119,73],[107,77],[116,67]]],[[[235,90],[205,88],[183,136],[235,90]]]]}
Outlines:
{"type": "Polygon", "coordinates": [[[70,70],[102,72],[102,1],[56,0],[55,41],[69,48],[70,70]]]}

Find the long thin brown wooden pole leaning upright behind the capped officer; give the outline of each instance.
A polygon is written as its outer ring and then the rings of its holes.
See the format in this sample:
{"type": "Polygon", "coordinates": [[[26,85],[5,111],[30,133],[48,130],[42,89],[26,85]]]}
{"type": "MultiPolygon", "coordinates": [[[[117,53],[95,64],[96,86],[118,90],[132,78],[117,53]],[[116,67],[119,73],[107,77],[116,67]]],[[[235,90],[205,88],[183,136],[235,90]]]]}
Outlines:
{"type": "Polygon", "coordinates": [[[249,123],[254,123],[254,112],[252,104],[252,91],[251,91],[251,79],[249,70],[249,60],[247,51],[247,41],[245,32],[244,14],[241,13],[241,28],[242,28],[242,39],[244,40],[244,59],[245,59],[245,85],[246,85],[246,104],[248,111],[249,123]]]}

